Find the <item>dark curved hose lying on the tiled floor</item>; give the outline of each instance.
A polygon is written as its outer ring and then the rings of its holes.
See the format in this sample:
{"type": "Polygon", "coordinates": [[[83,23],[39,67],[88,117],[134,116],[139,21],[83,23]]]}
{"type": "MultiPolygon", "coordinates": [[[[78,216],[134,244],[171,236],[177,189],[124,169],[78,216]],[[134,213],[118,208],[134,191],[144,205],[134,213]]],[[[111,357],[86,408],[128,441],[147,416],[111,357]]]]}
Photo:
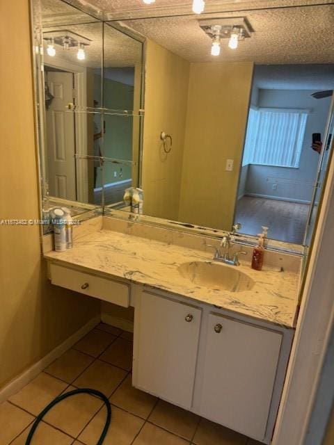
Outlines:
{"type": "Polygon", "coordinates": [[[40,421],[42,421],[43,417],[49,410],[51,410],[54,405],[57,405],[57,403],[63,401],[65,398],[70,396],[75,396],[76,394],[90,394],[91,396],[96,396],[98,398],[101,398],[102,401],[104,401],[104,405],[106,405],[106,423],[104,425],[104,428],[102,430],[102,435],[99,439],[99,442],[97,442],[96,445],[102,445],[104,442],[104,439],[106,438],[106,433],[108,432],[109,425],[111,422],[111,405],[109,402],[109,399],[102,394],[102,392],[97,391],[96,389],[90,389],[90,388],[82,388],[82,389],[74,389],[73,391],[65,392],[65,394],[61,394],[61,396],[56,397],[49,405],[47,405],[40,414],[36,417],[35,421],[33,422],[33,426],[31,427],[31,430],[29,431],[29,435],[26,438],[26,445],[31,444],[31,439],[33,438],[33,434],[38,427],[38,424],[40,421]]]}

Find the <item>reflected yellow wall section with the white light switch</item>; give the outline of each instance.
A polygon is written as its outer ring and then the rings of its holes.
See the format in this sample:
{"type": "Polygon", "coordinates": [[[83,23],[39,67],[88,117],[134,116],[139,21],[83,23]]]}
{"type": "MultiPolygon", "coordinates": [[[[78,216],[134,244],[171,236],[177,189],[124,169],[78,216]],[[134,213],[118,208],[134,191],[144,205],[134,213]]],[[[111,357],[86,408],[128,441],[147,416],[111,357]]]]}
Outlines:
{"type": "Polygon", "coordinates": [[[252,75],[250,62],[191,64],[181,221],[232,227],[252,75]],[[234,159],[232,172],[227,159],[234,159]]]}

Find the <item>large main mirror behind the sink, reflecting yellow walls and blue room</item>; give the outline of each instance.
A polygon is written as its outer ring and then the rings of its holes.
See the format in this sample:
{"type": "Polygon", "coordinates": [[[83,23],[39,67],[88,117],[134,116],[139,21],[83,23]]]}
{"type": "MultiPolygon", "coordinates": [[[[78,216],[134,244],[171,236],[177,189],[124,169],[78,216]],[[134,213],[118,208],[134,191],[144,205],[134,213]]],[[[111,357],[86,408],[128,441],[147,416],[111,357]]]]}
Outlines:
{"type": "Polygon", "coordinates": [[[329,95],[311,95],[334,83],[324,40],[333,35],[333,6],[123,22],[148,38],[144,213],[223,230],[240,222],[242,233],[255,236],[269,226],[269,238],[303,243],[319,163],[312,133],[325,137],[331,106],[329,95]],[[220,36],[213,56],[205,27],[234,20],[247,23],[250,36],[237,49],[220,36]],[[161,131],[173,138],[168,153],[161,131]],[[264,149],[271,157],[261,159],[264,149]]]}

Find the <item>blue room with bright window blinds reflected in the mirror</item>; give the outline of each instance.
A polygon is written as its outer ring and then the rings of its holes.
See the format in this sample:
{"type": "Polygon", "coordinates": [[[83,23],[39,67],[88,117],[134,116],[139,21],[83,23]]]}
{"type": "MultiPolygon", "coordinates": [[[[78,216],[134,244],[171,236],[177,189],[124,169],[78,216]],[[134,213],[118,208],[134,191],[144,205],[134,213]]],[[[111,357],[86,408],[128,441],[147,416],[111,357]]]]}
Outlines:
{"type": "Polygon", "coordinates": [[[234,220],[242,232],[303,243],[319,153],[312,135],[324,130],[334,65],[257,65],[234,220]],[[316,148],[316,147],[315,147],[316,148]]]}

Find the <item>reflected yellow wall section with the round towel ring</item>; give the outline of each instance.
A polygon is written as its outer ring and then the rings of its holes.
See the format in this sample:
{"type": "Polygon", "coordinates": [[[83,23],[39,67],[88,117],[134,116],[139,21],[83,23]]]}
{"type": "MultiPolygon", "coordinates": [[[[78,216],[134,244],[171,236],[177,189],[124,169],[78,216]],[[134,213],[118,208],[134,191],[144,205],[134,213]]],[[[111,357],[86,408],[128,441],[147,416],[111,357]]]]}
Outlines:
{"type": "Polygon", "coordinates": [[[144,213],[178,218],[189,62],[148,40],[143,134],[144,213]],[[173,136],[164,153],[161,131],[173,136]]]}

